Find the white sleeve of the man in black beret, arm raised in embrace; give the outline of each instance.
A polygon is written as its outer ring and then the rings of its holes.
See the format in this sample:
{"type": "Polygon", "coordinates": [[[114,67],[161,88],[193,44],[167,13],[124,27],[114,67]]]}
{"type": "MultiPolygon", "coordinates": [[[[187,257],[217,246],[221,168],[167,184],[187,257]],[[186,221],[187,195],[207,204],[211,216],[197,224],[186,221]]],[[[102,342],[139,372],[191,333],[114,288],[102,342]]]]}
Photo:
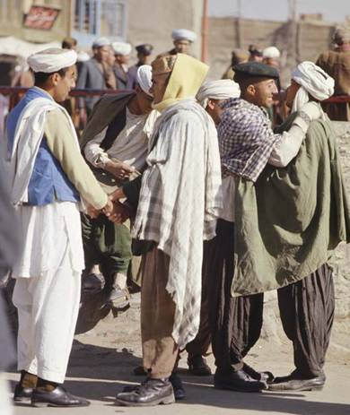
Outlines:
{"type": "Polygon", "coordinates": [[[272,164],[275,167],[287,166],[298,154],[308,128],[309,123],[302,117],[296,117],[290,130],[284,132],[281,136],[281,140],[276,143],[276,146],[268,159],[268,164],[272,164]]]}

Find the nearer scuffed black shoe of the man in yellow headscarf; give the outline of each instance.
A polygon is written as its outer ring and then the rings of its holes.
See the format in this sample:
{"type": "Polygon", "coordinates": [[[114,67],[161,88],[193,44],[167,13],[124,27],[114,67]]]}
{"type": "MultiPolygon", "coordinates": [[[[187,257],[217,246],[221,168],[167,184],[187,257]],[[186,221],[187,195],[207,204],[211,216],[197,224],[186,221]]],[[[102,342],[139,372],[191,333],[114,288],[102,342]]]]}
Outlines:
{"type": "Polygon", "coordinates": [[[117,402],[123,406],[154,406],[173,403],[175,397],[169,379],[148,378],[132,392],[118,393],[117,402]]]}

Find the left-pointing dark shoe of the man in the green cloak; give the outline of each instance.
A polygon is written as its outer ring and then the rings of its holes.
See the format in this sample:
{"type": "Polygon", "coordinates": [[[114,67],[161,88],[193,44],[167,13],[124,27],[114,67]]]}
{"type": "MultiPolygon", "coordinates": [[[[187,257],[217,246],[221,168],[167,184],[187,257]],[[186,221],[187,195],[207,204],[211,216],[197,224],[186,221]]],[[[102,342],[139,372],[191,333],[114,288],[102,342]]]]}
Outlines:
{"type": "Polygon", "coordinates": [[[268,385],[269,391],[320,391],[326,383],[326,376],[321,374],[315,377],[305,378],[294,370],[291,375],[276,377],[271,385],[268,385]]]}

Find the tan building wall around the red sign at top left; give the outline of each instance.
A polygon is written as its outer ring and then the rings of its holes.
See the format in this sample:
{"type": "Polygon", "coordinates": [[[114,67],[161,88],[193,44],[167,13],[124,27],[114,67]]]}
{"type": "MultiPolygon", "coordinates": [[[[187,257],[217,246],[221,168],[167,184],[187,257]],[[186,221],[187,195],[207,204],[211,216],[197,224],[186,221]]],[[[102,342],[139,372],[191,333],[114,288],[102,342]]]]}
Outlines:
{"type": "Polygon", "coordinates": [[[31,42],[50,42],[63,39],[70,31],[70,0],[4,0],[0,4],[0,36],[14,36],[31,42]],[[23,14],[31,4],[60,9],[52,30],[35,30],[22,26],[23,14]]]}

